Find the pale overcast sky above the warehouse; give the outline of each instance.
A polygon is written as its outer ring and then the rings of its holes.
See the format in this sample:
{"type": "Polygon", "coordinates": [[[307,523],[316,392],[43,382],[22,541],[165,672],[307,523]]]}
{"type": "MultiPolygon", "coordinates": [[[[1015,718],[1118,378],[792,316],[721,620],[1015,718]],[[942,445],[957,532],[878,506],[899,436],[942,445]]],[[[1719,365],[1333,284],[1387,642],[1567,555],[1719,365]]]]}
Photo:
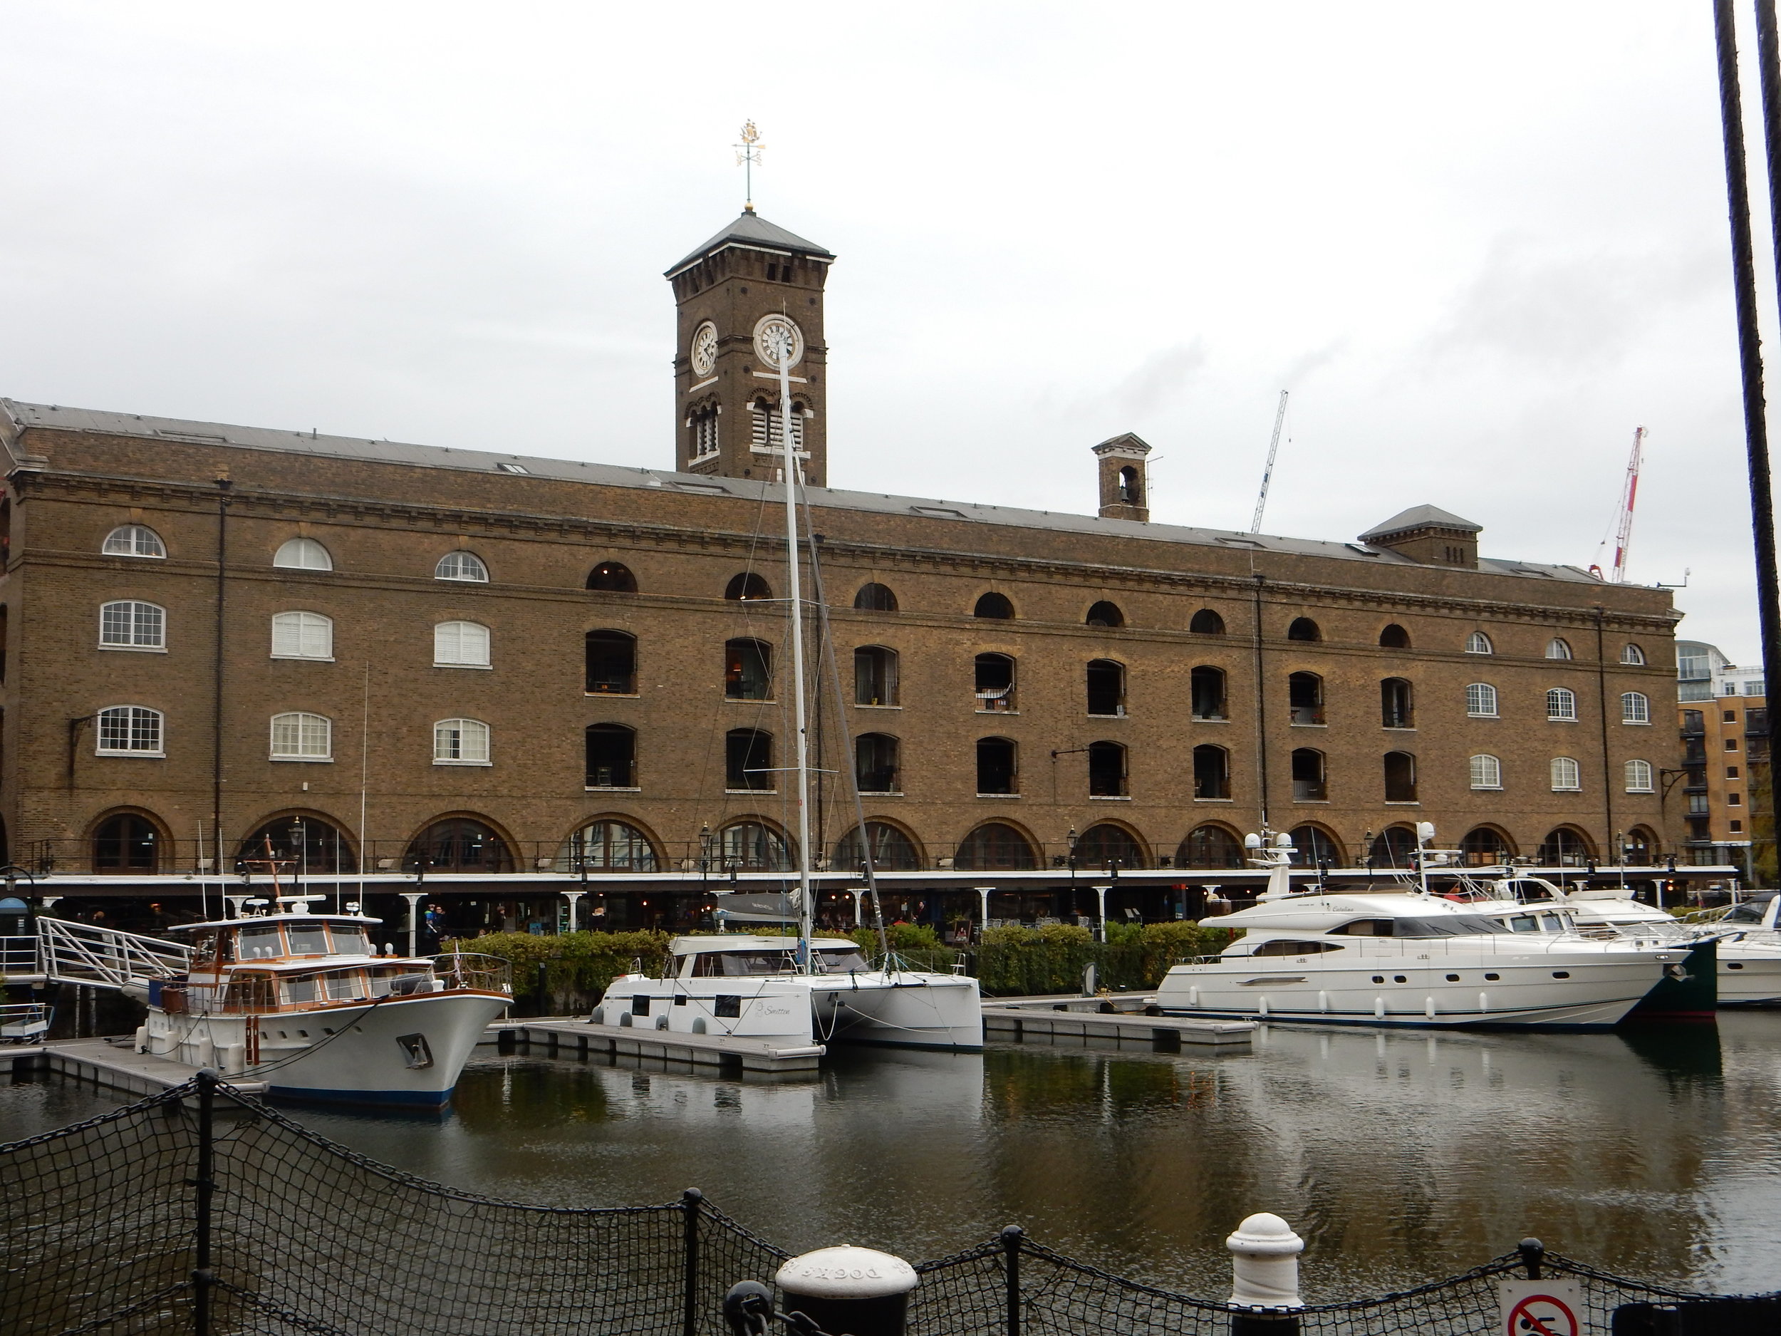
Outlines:
{"type": "Polygon", "coordinates": [[[1760,657],[1706,4],[12,4],[0,61],[4,395],[671,467],[753,118],[835,486],[1092,511],[1136,431],[1247,529],[1289,388],[1266,531],[1587,566],[1646,426],[1631,579],[1760,657]]]}

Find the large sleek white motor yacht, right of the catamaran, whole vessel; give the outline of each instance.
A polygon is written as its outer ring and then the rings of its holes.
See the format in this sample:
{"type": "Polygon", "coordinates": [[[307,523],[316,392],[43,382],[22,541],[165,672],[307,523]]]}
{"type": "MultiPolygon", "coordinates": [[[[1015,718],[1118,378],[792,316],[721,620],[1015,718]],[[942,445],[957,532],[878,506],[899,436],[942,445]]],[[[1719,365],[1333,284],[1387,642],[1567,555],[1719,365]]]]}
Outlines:
{"type": "MultiPolygon", "coordinates": [[[[1252,837],[1254,839],[1254,837],[1252,837]]],[[[1291,892],[1291,846],[1224,953],[1175,965],[1170,1015],[1320,1024],[1606,1030],[1687,957],[1681,944],[1585,935],[1565,908],[1457,903],[1425,889],[1291,892]]]]}

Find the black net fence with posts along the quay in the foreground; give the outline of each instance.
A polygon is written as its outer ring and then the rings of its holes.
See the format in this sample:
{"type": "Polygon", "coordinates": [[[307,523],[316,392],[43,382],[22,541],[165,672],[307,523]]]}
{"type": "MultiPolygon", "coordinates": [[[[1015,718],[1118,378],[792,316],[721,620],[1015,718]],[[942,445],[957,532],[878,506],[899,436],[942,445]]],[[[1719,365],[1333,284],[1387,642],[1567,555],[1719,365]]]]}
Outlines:
{"type": "MultiPolygon", "coordinates": [[[[7,1336],[725,1336],[725,1291],[789,1256],[696,1192],[577,1210],[429,1183],[205,1076],[0,1145],[0,1211],[7,1336]]],[[[1687,1293],[1533,1247],[1291,1313],[1138,1284],[1013,1227],[915,1270],[915,1336],[1471,1336],[1530,1274],[1578,1284],[1576,1331],[1514,1336],[1781,1332],[1781,1295],[1687,1293]]]]}

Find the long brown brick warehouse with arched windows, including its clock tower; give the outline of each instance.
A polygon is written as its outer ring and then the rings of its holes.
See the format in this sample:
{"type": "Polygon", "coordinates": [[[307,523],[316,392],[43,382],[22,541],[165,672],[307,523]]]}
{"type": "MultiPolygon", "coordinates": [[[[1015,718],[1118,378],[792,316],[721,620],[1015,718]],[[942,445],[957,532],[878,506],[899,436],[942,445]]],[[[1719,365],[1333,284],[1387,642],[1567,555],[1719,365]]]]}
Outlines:
{"type": "MultiPolygon", "coordinates": [[[[37,894],[185,916],[269,848],[456,930],[782,884],[755,344],[798,324],[821,481],[832,258],[744,214],[670,271],[679,472],[0,401],[0,819],[37,894]]],[[[1334,868],[1402,864],[1416,821],[1478,862],[1669,853],[1667,591],[1480,558],[1434,506],[1354,543],[1151,524],[1147,451],[1094,447],[1095,517],[810,486],[834,916],[844,768],[892,912],[931,919],[1086,910],[1110,864],[1115,912],[1195,912],[1263,825],[1334,868]]]]}

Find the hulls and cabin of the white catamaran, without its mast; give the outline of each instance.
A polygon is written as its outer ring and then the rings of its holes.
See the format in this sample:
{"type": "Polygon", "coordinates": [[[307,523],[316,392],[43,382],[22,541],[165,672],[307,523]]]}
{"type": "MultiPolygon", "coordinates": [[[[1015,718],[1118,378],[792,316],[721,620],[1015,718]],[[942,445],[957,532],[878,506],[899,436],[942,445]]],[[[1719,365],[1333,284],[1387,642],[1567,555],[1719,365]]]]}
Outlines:
{"type": "Polygon", "coordinates": [[[978,982],[923,969],[873,969],[846,937],[752,933],[675,937],[666,978],[622,974],[607,987],[595,1024],[693,1035],[736,1035],[787,1047],[892,1044],[983,1047],[978,982]]]}

